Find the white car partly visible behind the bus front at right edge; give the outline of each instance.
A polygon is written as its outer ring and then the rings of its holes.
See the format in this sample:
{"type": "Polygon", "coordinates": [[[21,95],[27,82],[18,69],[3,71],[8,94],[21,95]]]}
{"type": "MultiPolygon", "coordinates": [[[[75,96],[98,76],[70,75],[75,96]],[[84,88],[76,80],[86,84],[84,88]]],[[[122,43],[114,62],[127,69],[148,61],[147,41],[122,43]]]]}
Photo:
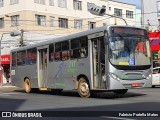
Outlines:
{"type": "Polygon", "coordinates": [[[152,87],[160,86],[160,67],[155,67],[152,70],[152,87]]]}

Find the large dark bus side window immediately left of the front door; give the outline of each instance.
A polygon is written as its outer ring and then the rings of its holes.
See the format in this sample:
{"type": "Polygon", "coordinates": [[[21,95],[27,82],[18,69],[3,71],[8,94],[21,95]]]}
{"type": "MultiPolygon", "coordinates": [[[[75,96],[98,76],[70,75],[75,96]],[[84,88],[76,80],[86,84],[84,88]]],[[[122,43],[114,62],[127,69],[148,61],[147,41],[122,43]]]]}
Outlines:
{"type": "Polygon", "coordinates": [[[87,37],[81,37],[71,40],[71,59],[84,58],[88,56],[87,37]]]}

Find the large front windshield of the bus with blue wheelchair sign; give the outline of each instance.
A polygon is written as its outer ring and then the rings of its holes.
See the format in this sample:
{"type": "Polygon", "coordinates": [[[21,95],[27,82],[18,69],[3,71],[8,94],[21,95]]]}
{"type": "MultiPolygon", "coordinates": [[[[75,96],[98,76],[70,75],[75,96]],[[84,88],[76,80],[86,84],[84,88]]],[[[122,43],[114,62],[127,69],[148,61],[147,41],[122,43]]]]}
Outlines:
{"type": "Polygon", "coordinates": [[[149,41],[143,36],[110,37],[109,58],[113,65],[151,65],[149,41]]]}

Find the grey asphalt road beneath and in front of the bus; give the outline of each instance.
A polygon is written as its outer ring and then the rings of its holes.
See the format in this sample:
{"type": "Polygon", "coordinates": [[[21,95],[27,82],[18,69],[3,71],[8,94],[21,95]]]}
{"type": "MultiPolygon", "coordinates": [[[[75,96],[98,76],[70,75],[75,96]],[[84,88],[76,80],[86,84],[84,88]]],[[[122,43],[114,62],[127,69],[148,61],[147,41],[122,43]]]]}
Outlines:
{"type": "Polygon", "coordinates": [[[61,119],[70,116],[72,118],[67,118],[73,120],[73,117],[80,119],[80,116],[82,119],[83,115],[83,119],[86,120],[97,119],[97,116],[102,120],[144,119],[145,111],[155,114],[159,111],[157,113],[159,117],[145,117],[148,120],[158,120],[160,119],[160,88],[132,89],[124,96],[117,96],[112,92],[98,93],[91,98],[81,98],[77,92],[73,91],[64,91],[60,94],[53,92],[26,94],[17,88],[0,88],[0,111],[48,111],[50,116],[55,114],[65,116],[61,119]],[[61,112],[57,113],[57,111],[61,112]],[[123,116],[125,112],[133,114],[136,111],[141,113],[142,117],[123,116]],[[113,116],[110,117],[108,114],[113,116]],[[117,114],[122,114],[122,116],[117,116],[117,114]],[[92,115],[93,118],[91,118],[92,115]]]}

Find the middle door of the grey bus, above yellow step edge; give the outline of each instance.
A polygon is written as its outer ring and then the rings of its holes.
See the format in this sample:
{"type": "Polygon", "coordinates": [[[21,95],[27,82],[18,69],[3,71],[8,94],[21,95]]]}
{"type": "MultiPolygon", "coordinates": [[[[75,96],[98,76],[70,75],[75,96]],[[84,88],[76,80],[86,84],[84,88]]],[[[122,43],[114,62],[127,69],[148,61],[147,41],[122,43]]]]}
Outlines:
{"type": "Polygon", "coordinates": [[[38,86],[40,90],[47,90],[48,79],[48,48],[38,49],[38,86]]]}

